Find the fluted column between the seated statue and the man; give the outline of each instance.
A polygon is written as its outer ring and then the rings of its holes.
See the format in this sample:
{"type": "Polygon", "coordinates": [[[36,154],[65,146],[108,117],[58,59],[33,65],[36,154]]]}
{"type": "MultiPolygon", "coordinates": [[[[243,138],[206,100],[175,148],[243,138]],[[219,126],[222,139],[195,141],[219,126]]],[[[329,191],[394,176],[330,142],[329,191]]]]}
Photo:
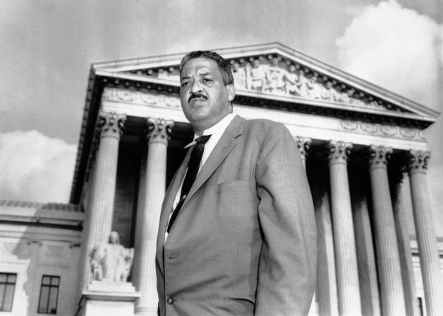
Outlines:
{"type": "Polygon", "coordinates": [[[135,227],[133,281],[137,291],[141,292],[140,299],[135,303],[135,315],[157,315],[155,251],[166,186],[166,151],[174,122],[148,118],[147,124],[146,170],[140,178],[141,192],[135,227]]]}

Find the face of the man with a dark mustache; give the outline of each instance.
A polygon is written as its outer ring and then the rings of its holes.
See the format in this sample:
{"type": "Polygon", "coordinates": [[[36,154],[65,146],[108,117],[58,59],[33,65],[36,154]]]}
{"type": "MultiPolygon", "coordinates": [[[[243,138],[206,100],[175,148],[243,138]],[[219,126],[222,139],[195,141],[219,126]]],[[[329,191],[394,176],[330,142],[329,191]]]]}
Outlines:
{"type": "Polygon", "coordinates": [[[225,86],[222,72],[212,59],[203,57],[186,62],[180,76],[181,107],[196,132],[217,124],[232,112],[233,85],[225,86]]]}

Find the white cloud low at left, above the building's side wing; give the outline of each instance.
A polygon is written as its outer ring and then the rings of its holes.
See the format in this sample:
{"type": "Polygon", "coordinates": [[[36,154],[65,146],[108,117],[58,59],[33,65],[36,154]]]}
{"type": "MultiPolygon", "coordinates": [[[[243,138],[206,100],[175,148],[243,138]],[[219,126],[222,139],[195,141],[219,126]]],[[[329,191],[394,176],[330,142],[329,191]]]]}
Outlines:
{"type": "Polygon", "coordinates": [[[0,199],[68,202],[75,153],[39,131],[0,134],[0,199]]]}

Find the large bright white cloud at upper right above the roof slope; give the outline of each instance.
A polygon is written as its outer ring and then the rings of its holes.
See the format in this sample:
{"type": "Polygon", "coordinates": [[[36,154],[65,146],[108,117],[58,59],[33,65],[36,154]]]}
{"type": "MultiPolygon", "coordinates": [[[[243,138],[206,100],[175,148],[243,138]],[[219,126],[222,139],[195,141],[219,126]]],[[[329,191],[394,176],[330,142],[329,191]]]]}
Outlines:
{"type": "Polygon", "coordinates": [[[342,69],[438,109],[439,25],[396,1],[366,7],[336,40],[342,69]]]}

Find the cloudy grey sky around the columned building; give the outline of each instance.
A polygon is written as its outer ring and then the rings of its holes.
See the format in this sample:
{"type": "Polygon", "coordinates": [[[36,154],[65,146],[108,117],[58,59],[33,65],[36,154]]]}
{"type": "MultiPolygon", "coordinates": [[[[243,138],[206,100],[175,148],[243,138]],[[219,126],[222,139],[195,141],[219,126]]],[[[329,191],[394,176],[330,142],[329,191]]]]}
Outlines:
{"type": "MultiPolygon", "coordinates": [[[[281,42],[443,112],[440,2],[2,0],[0,199],[68,202],[95,62],[281,42]]],[[[439,117],[425,136],[443,236],[442,135],[439,117]]]]}

